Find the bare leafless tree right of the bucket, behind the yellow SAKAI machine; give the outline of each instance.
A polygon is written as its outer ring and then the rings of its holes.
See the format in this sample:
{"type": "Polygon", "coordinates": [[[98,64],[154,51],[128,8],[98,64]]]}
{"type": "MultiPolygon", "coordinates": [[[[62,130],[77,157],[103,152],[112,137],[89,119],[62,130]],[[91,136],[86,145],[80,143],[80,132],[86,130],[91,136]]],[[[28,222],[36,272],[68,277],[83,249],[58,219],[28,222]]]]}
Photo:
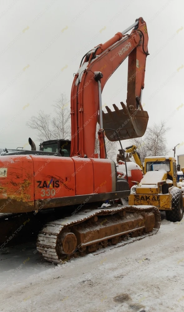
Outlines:
{"type": "Polygon", "coordinates": [[[141,161],[148,156],[161,156],[168,154],[166,133],[170,128],[165,127],[164,121],[148,127],[143,138],[132,139],[137,146],[141,161]]]}

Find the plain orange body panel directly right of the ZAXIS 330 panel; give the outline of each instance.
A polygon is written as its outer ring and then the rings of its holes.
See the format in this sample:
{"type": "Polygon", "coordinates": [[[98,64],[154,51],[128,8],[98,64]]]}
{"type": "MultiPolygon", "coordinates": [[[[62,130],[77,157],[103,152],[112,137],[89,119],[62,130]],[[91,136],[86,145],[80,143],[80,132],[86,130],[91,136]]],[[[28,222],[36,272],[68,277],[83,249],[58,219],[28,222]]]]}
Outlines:
{"type": "Polygon", "coordinates": [[[89,158],[72,157],[75,166],[75,192],[76,195],[94,193],[93,163],[89,158]]]}

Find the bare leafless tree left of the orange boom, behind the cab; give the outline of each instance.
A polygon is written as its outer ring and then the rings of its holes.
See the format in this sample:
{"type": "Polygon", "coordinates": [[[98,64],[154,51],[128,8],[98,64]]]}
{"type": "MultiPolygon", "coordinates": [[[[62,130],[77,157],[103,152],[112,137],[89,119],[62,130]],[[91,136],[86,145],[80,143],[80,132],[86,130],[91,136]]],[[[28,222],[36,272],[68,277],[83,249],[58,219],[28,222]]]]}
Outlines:
{"type": "Polygon", "coordinates": [[[28,127],[37,130],[37,138],[41,141],[70,139],[70,111],[65,94],[61,94],[53,106],[53,117],[40,110],[37,117],[32,116],[27,122],[28,127]]]}

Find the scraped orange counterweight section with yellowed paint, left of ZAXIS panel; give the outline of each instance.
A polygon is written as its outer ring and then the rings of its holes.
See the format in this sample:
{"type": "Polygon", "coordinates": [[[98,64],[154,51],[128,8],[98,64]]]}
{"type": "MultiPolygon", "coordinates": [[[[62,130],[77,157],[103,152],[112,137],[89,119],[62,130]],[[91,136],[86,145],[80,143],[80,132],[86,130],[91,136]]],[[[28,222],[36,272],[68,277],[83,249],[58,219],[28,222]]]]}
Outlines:
{"type": "Polygon", "coordinates": [[[34,210],[33,162],[29,155],[0,157],[0,212],[34,210]]]}

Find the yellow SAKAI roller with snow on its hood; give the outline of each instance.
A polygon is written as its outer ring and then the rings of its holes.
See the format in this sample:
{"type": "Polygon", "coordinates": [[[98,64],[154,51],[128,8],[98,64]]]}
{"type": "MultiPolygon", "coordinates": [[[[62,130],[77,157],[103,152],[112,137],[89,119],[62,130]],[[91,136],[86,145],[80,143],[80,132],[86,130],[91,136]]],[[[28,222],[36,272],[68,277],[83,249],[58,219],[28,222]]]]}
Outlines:
{"type": "Polygon", "coordinates": [[[177,187],[176,159],[169,156],[146,157],[144,177],[131,188],[129,205],[154,205],[165,210],[169,221],[181,221],[183,217],[181,188],[177,187]]]}

